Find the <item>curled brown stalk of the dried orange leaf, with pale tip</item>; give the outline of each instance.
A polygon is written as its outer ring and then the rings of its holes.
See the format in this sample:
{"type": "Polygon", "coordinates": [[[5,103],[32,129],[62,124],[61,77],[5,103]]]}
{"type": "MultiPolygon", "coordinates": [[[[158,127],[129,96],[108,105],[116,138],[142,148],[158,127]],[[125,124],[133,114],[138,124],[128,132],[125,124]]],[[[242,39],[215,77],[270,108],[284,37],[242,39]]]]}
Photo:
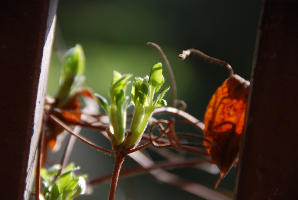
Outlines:
{"type": "Polygon", "coordinates": [[[197,49],[187,49],[185,51],[182,51],[182,54],[178,55],[178,58],[184,60],[187,56],[189,56],[191,53],[195,53],[199,56],[201,56],[202,58],[205,58],[208,61],[214,62],[214,63],[218,63],[220,65],[226,66],[226,68],[229,69],[230,72],[230,76],[234,75],[233,69],[231,67],[231,65],[229,65],[229,63],[226,63],[225,61],[221,61],[217,58],[212,58],[209,55],[204,54],[203,52],[197,50],[197,49]]]}

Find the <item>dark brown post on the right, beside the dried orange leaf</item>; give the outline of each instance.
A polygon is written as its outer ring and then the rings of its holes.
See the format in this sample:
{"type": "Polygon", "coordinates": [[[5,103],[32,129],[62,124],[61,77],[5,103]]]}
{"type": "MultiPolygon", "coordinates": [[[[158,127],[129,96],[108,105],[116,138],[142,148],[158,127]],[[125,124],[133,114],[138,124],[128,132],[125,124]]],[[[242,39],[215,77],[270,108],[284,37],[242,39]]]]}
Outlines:
{"type": "Polygon", "coordinates": [[[298,1],[263,1],[235,199],[298,199],[298,1]]]}

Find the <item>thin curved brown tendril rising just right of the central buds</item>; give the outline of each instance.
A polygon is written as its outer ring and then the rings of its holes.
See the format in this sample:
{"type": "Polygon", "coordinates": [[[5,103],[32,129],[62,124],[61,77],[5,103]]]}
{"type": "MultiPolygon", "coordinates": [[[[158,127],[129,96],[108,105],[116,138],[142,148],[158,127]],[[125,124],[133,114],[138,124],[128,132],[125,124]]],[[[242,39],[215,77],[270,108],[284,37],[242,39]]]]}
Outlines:
{"type": "Polygon", "coordinates": [[[177,106],[177,86],[176,86],[176,81],[175,81],[175,77],[174,77],[174,73],[173,70],[171,68],[170,62],[167,59],[167,56],[164,54],[164,52],[162,51],[162,48],[160,48],[159,45],[153,43],[153,42],[147,42],[148,45],[155,47],[158,52],[160,53],[160,55],[162,56],[162,58],[164,59],[164,62],[166,63],[167,66],[167,70],[169,72],[170,75],[170,80],[171,80],[171,85],[172,85],[172,90],[173,90],[173,102],[172,102],[172,106],[174,108],[176,108],[177,106]]]}

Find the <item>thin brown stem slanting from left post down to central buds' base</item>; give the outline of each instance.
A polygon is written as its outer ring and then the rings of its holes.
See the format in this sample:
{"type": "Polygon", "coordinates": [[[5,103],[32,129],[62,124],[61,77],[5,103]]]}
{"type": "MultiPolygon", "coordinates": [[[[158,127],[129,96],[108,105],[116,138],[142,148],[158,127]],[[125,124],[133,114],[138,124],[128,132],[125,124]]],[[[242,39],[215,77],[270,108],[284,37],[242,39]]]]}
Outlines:
{"type": "Polygon", "coordinates": [[[99,151],[102,151],[106,154],[111,154],[111,155],[114,155],[114,151],[110,151],[110,150],[107,150],[107,149],[104,149],[104,148],[101,148],[97,145],[95,145],[93,142],[91,142],[90,140],[86,139],[85,137],[83,136],[80,136],[80,135],[77,135],[73,132],[73,130],[67,126],[65,123],[63,123],[61,120],[59,120],[58,117],[56,117],[55,115],[53,114],[49,114],[49,117],[54,120],[55,122],[58,123],[58,125],[60,125],[62,128],[64,128],[66,131],[68,131],[70,134],[72,134],[73,136],[75,136],[77,139],[81,140],[82,142],[85,142],[86,144],[88,144],[89,146],[99,150],[99,151]]]}

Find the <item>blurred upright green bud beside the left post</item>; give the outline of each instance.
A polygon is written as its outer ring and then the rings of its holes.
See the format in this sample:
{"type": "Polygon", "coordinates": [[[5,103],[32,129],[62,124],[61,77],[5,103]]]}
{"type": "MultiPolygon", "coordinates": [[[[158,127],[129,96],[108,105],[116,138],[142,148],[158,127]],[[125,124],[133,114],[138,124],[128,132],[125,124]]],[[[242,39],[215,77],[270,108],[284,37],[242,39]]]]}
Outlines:
{"type": "Polygon", "coordinates": [[[77,92],[77,88],[83,86],[86,80],[84,71],[84,51],[82,46],[77,44],[63,55],[63,66],[55,95],[55,98],[58,100],[57,106],[59,108],[77,92]]]}

